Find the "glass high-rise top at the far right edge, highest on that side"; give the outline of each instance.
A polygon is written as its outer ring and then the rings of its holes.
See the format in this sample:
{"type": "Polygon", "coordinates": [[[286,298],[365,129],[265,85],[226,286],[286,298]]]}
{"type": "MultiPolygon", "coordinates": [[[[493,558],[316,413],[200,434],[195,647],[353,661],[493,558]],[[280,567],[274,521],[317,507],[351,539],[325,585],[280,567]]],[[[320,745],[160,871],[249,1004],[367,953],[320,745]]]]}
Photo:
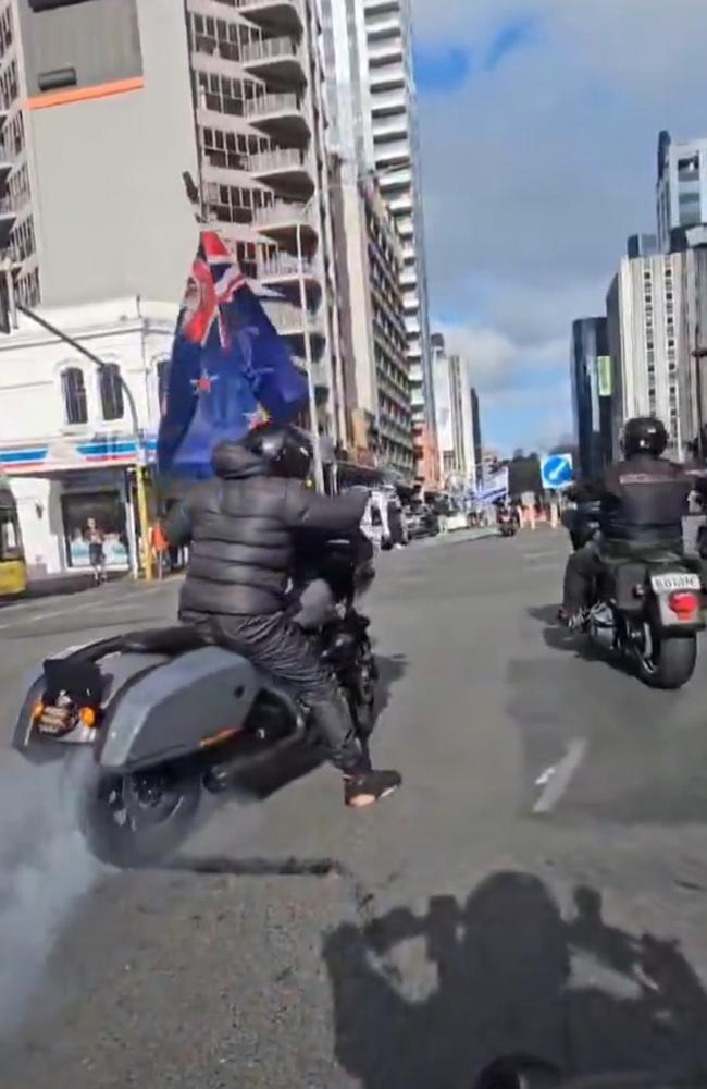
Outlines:
{"type": "Polygon", "coordinates": [[[677,228],[707,223],[707,138],[673,143],[658,137],[658,245],[670,249],[677,228]]]}

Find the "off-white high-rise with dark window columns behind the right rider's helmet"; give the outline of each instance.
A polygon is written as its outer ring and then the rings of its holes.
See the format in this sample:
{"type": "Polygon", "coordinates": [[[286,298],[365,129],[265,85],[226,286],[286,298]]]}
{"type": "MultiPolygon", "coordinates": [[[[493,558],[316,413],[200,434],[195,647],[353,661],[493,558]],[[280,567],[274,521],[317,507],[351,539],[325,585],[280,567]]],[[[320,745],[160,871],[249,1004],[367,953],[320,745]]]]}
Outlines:
{"type": "Polygon", "coordinates": [[[686,405],[681,375],[690,368],[683,331],[683,254],[624,257],[607,298],[609,354],[613,360],[612,446],[632,416],[658,416],[670,450],[684,453],[686,405]]]}

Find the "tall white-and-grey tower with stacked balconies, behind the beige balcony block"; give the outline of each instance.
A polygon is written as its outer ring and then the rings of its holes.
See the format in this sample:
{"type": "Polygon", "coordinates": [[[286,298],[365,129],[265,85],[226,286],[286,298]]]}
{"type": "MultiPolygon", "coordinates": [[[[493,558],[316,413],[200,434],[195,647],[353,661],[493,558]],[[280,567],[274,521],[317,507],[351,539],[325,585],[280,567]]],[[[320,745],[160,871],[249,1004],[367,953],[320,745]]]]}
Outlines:
{"type": "Polygon", "coordinates": [[[402,243],[418,475],[434,445],[420,148],[409,0],[322,0],[330,111],[335,146],[362,172],[374,171],[402,243]]]}

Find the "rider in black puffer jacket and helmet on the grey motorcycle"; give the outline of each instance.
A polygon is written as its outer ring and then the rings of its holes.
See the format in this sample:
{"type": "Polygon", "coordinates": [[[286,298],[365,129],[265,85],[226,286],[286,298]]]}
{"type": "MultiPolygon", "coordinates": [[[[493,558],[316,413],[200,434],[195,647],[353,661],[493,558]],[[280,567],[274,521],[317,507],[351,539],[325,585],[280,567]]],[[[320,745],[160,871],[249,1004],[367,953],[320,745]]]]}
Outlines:
{"type": "Polygon", "coordinates": [[[371,768],[336,680],[285,610],[298,531],[358,535],[367,494],[330,499],[308,489],[311,446],[294,427],[265,425],[241,442],[222,442],[212,465],[214,479],[176,504],[165,526],[173,547],[189,546],[179,619],[294,692],[343,774],[346,805],[371,805],[400,775],[371,768]]]}

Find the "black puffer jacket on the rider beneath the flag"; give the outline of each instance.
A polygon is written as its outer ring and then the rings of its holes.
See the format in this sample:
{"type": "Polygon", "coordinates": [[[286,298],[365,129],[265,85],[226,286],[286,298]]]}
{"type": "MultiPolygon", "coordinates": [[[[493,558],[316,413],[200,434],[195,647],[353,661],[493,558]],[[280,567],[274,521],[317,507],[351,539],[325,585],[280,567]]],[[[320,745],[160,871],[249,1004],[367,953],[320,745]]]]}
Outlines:
{"type": "Polygon", "coordinates": [[[197,486],[165,526],[170,544],[190,547],[179,615],[280,612],[298,530],[354,535],[367,497],[330,499],[271,477],[266,462],[232,442],[216,446],[213,467],[215,479],[197,486]]]}

